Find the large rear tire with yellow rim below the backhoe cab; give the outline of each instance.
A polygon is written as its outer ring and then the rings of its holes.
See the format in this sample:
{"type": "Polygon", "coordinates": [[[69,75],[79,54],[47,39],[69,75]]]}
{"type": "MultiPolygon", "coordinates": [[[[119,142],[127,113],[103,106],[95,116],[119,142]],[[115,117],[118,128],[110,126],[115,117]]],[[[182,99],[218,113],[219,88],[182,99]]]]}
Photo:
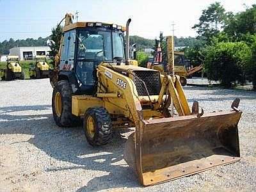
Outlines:
{"type": "Polygon", "coordinates": [[[67,80],[58,81],[53,89],[52,115],[60,127],[79,125],[79,118],[72,115],[72,88],[67,80]]]}

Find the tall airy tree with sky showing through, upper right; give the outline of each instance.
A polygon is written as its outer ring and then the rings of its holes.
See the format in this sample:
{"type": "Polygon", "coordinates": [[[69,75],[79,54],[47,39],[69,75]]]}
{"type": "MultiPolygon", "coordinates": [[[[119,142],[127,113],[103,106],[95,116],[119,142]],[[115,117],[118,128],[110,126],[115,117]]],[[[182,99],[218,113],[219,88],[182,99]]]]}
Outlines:
{"type": "Polygon", "coordinates": [[[220,32],[226,18],[225,9],[220,3],[210,4],[206,10],[203,10],[199,23],[193,26],[193,29],[197,30],[197,38],[209,42],[212,36],[220,32]]]}

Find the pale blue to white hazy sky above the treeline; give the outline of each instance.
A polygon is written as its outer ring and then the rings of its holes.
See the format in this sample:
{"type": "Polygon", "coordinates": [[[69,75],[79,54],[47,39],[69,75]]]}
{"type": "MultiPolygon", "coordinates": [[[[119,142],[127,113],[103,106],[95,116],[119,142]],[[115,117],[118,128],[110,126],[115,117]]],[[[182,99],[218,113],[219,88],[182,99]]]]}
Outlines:
{"type": "MultiPolygon", "coordinates": [[[[78,21],[111,22],[125,26],[131,18],[130,34],[156,38],[196,36],[191,29],[202,10],[216,0],[0,0],[0,42],[51,35],[51,29],[65,13],[78,13],[78,21]]],[[[255,0],[219,1],[228,12],[241,12],[255,0]]]]}

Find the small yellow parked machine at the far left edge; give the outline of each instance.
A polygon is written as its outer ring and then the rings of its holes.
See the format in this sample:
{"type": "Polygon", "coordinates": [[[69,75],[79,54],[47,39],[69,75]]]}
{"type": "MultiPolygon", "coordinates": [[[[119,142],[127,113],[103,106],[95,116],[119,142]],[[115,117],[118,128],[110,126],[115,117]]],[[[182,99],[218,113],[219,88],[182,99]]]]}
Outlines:
{"type": "Polygon", "coordinates": [[[22,70],[19,64],[19,56],[7,56],[6,66],[0,68],[0,77],[6,81],[25,79],[24,70],[22,70]]]}

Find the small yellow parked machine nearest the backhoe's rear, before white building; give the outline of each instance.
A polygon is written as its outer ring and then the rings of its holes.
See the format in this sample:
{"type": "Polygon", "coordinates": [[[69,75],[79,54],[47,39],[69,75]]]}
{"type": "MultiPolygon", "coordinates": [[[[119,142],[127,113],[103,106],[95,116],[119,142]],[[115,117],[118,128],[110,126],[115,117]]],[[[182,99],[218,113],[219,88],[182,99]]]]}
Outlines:
{"type": "Polygon", "coordinates": [[[29,68],[29,76],[31,79],[41,79],[49,77],[51,67],[46,61],[45,55],[35,57],[35,65],[29,68]]]}

